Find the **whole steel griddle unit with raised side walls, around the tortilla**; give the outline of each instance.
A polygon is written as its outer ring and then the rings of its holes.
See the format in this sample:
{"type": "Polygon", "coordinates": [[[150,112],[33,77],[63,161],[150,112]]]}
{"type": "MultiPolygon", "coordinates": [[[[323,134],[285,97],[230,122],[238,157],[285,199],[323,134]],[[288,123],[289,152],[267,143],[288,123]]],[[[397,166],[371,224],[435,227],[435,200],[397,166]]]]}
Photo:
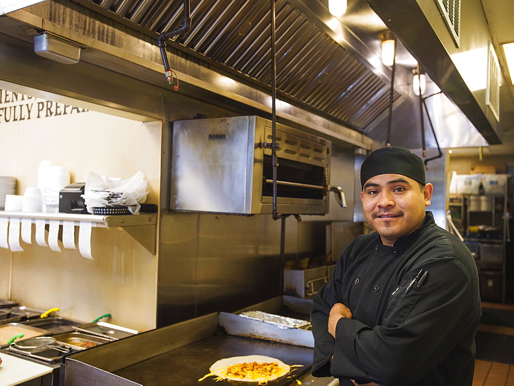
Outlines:
{"type": "MultiPolygon", "coordinates": [[[[271,299],[255,307],[272,312],[281,303],[280,299],[271,299]]],[[[250,327],[255,327],[255,323],[243,317],[237,321],[237,315],[234,314],[214,313],[106,343],[68,356],[61,384],[153,386],[173,382],[177,385],[247,386],[247,382],[215,382],[213,377],[200,383],[198,379],[208,374],[210,365],[218,359],[253,354],[277,358],[290,365],[301,365],[293,367],[294,371],[290,375],[269,382],[270,386],[297,384],[299,378],[302,378],[304,384],[313,386],[337,384],[334,378],[315,379],[310,375],[314,350],[308,346],[310,341],[305,339],[307,334],[311,335],[310,332],[277,327],[286,333],[271,331],[268,336],[269,328],[272,328],[268,327],[261,339],[255,339],[253,335],[241,336],[240,331],[246,332],[250,327]],[[233,332],[229,324],[239,324],[235,328],[237,332],[233,332]],[[298,337],[294,336],[295,330],[298,337]],[[281,335],[281,342],[276,341],[277,335],[281,335]],[[288,343],[283,339],[284,336],[296,343],[288,343]]]]}

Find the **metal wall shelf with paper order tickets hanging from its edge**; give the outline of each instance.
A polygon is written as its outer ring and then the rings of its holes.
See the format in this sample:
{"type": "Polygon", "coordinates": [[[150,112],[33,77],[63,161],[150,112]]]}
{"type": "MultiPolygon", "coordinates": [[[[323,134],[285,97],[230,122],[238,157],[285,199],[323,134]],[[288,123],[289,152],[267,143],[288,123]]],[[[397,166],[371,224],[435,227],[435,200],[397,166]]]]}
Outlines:
{"type": "Polygon", "coordinates": [[[50,224],[50,220],[59,220],[59,225],[62,225],[64,221],[73,221],[75,226],[79,226],[81,221],[88,221],[91,222],[92,227],[96,228],[121,227],[148,251],[154,255],[156,254],[157,213],[105,216],[97,214],[0,211],[0,217],[30,218],[32,224],[35,223],[36,219],[44,219],[45,224],[50,224]]]}

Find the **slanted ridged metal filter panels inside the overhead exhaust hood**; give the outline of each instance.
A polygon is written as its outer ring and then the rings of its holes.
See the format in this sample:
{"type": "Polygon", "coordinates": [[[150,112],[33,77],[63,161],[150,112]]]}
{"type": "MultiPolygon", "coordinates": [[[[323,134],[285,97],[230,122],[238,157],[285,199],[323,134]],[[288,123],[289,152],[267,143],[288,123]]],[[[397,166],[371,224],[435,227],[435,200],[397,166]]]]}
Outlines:
{"type": "MultiPolygon", "coordinates": [[[[156,37],[178,26],[182,17],[181,2],[170,0],[75,1],[156,37]]],[[[293,7],[294,3],[277,1],[278,97],[363,132],[387,112],[387,73],[363,61],[356,55],[357,49],[334,41],[300,12],[301,4],[293,7]]],[[[175,46],[267,90],[271,83],[269,8],[268,1],[195,1],[191,4],[191,30],[177,36],[175,46]]],[[[393,99],[395,104],[406,99],[400,87],[393,99]]]]}

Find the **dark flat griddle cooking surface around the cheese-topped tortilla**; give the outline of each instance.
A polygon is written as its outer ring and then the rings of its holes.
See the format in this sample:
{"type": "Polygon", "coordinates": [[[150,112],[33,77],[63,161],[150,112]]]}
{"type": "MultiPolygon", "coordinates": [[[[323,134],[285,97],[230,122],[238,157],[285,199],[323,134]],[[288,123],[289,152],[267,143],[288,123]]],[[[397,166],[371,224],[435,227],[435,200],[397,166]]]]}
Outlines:
{"type": "Polygon", "coordinates": [[[209,367],[218,359],[243,355],[266,355],[280,359],[289,365],[303,365],[302,367],[293,367],[291,369],[293,371],[288,375],[268,382],[269,386],[282,386],[296,384],[295,379],[310,371],[313,352],[312,348],[307,347],[232,335],[213,335],[125,367],[113,374],[144,386],[161,386],[163,384],[253,386],[257,382],[225,379],[216,382],[214,381],[215,377],[208,377],[198,382],[198,379],[208,374],[209,367]]]}

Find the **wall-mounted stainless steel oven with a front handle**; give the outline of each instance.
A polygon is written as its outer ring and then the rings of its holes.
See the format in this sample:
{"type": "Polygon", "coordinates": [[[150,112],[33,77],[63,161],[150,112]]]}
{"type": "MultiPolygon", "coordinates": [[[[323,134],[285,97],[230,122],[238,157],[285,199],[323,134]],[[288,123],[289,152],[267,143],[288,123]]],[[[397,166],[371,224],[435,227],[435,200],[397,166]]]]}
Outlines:
{"type": "MultiPolygon", "coordinates": [[[[170,208],[181,211],[272,212],[271,121],[257,116],[173,124],[170,208]]],[[[325,214],[332,142],[276,124],[277,212],[325,214]]]]}

